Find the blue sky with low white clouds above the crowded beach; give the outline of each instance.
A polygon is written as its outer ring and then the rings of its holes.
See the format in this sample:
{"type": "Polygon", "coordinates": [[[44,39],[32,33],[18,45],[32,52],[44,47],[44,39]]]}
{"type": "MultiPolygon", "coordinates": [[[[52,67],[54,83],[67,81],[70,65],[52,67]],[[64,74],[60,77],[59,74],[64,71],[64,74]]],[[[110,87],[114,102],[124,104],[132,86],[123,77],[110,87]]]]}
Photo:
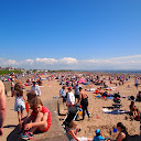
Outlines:
{"type": "Polygon", "coordinates": [[[0,66],[141,69],[141,0],[1,0],[0,66]]]}

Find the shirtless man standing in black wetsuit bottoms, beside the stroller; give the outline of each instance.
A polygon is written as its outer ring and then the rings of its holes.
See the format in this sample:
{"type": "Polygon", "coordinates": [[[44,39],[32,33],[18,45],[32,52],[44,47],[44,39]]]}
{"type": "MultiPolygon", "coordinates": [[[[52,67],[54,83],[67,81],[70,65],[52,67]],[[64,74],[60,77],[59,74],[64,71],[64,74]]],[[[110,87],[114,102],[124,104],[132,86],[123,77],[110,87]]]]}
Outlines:
{"type": "Polygon", "coordinates": [[[82,105],[82,109],[83,109],[83,120],[85,118],[85,110],[87,112],[87,116],[89,118],[89,112],[88,112],[88,96],[85,91],[83,91],[83,88],[79,87],[79,100],[80,100],[80,105],[82,105]]]}

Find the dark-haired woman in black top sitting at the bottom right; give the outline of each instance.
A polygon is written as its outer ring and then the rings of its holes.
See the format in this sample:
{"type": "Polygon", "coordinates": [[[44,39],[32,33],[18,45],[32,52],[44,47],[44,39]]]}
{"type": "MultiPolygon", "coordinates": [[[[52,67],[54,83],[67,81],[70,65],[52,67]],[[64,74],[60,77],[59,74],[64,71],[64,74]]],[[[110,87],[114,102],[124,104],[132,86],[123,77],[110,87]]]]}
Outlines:
{"type": "Polygon", "coordinates": [[[127,141],[128,140],[128,131],[121,122],[117,123],[117,130],[119,131],[119,134],[118,134],[116,141],[127,141]]]}

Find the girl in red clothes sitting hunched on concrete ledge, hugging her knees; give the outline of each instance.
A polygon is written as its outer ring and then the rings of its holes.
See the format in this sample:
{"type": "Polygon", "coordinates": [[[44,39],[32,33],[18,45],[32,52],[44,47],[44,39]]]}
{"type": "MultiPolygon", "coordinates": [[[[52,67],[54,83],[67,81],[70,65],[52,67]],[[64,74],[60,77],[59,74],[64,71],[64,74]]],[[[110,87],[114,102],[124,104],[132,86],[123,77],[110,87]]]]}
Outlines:
{"type": "Polygon", "coordinates": [[[35,130],[46,132],[52,122],[51,112],[46,107],[43,107],[40,98],[34,98],[30,106],[33,111],[26,120],[29,123],[24,124],[24,132],[21,134],[21,138],[25,140],[32,139],[35,130]]]}

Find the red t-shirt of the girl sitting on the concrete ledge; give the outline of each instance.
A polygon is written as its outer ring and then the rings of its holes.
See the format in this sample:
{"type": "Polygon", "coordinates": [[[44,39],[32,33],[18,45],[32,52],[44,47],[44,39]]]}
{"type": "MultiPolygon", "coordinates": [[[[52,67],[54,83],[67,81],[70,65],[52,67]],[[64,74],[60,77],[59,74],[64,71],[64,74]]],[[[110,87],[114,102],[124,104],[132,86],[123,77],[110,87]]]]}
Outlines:
{"type": "MultiPolygon", "coordinates": [[[[52,122],[52,117],[51,117],[51,112],[50,112],[50,110],[46,108],[46,107],[42,107],[42,111],[41,111],[43,115],[44,113],[46,113],[46,112],[48,112],[48,118],[47,118],[47,127],[51,127],[51,122],[52,122]]],[[[31,113],[32,116],[34,116],[34,117],[36,117],[37,116],[37,113],[36,112],[34,112],[34,111],[32,111],[32,113],[31,113]]]]}

